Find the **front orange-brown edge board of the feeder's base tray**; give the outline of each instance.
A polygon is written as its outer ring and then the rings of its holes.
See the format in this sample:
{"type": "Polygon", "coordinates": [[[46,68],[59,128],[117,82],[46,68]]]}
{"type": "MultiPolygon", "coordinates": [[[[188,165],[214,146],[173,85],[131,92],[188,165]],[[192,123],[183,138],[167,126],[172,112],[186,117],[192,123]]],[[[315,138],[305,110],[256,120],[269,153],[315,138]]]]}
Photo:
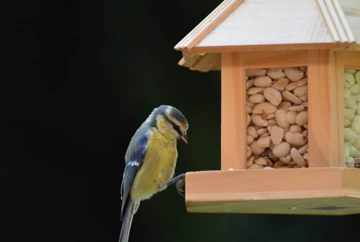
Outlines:
{"type": "Polygon", "coordinates": [[[186,175],[186,199],[201,202],[333,196],[342,188],[344,169],[189,172],[186,175]]]}

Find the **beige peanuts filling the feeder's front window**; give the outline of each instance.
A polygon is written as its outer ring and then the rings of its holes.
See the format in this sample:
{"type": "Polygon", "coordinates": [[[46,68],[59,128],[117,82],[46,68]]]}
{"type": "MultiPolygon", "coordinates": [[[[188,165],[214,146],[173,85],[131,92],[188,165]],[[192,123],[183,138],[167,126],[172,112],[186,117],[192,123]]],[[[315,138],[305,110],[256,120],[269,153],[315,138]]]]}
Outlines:
{"type": "Polygon", "coordinates": [[[248,169],[308,167],[307,69],[247,69],[248,169]]]}

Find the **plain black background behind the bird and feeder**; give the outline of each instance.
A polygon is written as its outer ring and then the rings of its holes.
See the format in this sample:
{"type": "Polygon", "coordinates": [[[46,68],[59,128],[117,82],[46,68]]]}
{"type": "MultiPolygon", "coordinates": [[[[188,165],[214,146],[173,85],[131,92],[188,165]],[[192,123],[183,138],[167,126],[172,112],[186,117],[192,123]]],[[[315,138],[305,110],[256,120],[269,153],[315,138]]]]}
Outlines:
{"type": "MultiPolygon", "coordinates": [[[[1,134],[2,217],[11,237],[2,240],[117,241],[123,157],[160,104],[190,123],[176,173],[220,169],[220,72],[179,67],[173,50],[220,3],[14,6],[1,134]]],[[[360,235],[359,220],[187,213],[169,187],[141,203],[130,241],[346,241],[360,235]]]]}

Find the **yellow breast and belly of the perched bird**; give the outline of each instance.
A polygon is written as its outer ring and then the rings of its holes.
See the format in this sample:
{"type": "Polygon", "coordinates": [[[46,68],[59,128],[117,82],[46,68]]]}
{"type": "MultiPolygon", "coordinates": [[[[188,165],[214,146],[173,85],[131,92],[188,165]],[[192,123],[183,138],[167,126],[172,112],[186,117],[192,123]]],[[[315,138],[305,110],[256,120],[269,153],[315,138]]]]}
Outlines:
{"type": "Polygon", "coordinates": [[[168,140],[154,129],[149,135],[144,162],[137,171],[132,183],[131,198],[144,200],[163,190],[164,188],[161,188],[159,184],[172,178],[176,159],[176,139],[168,140]]]}

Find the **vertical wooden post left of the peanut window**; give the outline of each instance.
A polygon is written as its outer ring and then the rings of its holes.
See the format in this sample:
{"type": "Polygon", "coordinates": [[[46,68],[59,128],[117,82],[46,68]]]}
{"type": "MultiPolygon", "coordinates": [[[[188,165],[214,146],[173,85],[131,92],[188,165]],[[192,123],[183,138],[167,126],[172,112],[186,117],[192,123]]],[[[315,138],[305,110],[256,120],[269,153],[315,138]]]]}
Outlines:
{"type": "Polygon", "coordinates": [[[222,54],[221,169],[246,168],[245,70],[237,53],[222,54]]]}

